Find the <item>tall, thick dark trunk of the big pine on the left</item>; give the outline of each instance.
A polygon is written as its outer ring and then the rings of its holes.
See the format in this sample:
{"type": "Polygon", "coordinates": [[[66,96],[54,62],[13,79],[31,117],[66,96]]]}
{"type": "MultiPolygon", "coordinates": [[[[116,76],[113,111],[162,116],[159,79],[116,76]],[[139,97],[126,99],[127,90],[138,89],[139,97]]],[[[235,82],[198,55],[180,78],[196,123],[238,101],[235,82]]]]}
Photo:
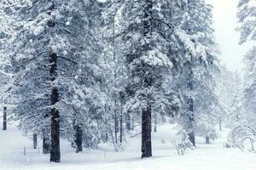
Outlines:
{"type": "Polygon", "coordinates": [[[50,110],[51,116],[51,147],[50,147],[50,158],[49,161],[60,162],[61,161],[61,151],[60,151],[60,113],[55,105],[59,101],[59,92],[57,85],[55,84],[55,79],[57,77],[57,55],[51,53],[49,56],[49,63],[51,64],[49,74],[50,81],[52,84],[51,94],[50,94],[50,105],[52,108],[50,110]]]}

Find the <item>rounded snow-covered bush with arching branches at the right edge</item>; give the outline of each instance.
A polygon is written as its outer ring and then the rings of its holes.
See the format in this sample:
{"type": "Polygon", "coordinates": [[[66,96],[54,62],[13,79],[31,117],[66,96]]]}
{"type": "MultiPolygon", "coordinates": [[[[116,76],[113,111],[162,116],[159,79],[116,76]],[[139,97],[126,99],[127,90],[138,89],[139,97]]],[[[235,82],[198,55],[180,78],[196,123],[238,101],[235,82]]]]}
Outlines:
{"type": "Polygon", "coordinates": [[[248,125],[235,127],[231,132],[225,147],[239,148],[255,152],[254,144],[256,141],[256,131],[248,125]]]}

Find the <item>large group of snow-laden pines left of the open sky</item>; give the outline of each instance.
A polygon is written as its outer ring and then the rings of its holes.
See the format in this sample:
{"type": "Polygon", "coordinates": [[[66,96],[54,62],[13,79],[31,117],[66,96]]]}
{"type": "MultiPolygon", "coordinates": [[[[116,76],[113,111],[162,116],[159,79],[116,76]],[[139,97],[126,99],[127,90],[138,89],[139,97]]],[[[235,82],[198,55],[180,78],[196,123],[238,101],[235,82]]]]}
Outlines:
{"type": "Polygon", "coordinates": [[[137,124],[152,156],[152,127],[170,118],[194,145],[216,138],[224,113],[204,0],[2,0],[0,17],[1,99],[50,161],[61,161],[60,137],[77,152],[119,150],[137,124]]]}

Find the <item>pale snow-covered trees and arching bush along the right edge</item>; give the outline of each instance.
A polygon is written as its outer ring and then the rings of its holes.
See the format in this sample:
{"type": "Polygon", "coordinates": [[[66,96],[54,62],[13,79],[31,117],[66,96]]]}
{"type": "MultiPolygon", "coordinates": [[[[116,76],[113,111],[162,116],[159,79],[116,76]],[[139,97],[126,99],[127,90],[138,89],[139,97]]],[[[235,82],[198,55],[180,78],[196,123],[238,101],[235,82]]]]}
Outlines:
{"type": "MultiPolygon", "coordinates": [[[[256,26],[256,5],[252,0],[240,0],[238,5],[237,19],[239,25],[236,28],[240,32],[240,44],[255,42],[256,26]]],[[[250,145],[250,150],[254,151],[253,144],[256,141],[255,124],[255,54],[256,48],[253,45],[244,56],[245,74],[242,86],[236,90],[236,98],[233,100],[232,116],[230,122],[232,131],[230,133],[230,145],[241,150],[250,145]]],[[[240,80],[240,82],[242,82],[240,80]]]]}

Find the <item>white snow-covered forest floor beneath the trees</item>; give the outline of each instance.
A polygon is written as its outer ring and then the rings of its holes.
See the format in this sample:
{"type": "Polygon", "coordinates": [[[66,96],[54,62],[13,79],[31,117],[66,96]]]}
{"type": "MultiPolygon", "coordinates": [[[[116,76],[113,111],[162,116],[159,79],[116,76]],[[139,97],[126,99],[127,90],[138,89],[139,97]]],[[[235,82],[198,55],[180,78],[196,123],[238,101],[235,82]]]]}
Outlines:
{"type": "MultiPolygon", "coordinates": [[[[219,133],[212,144],[204,144],[197,138],[195,150],[177,156],[171,140],[176,139],[173,125],[158,128],[153,133],[153,157],[140,159],[140,135],[127,139],[125,150],[114,152],[110,144],[102,144],[97,150],[84,150],[76,154],[66,140],[61,140],[61,163],[49,163],[49,156],[42,154],[41,143],[32,149],[32,139],[22,136],[14,126],[0,131],[1,170],[255,170],[255,154],[223,147],[227,130],[219,133]],[[26,156],[24,148],[26,147],[26,156]]],[[[131,135],[126,135],[131,136],[131,135]]],[[[127,137],[128,138],[128,137],[127,137]]]]}

